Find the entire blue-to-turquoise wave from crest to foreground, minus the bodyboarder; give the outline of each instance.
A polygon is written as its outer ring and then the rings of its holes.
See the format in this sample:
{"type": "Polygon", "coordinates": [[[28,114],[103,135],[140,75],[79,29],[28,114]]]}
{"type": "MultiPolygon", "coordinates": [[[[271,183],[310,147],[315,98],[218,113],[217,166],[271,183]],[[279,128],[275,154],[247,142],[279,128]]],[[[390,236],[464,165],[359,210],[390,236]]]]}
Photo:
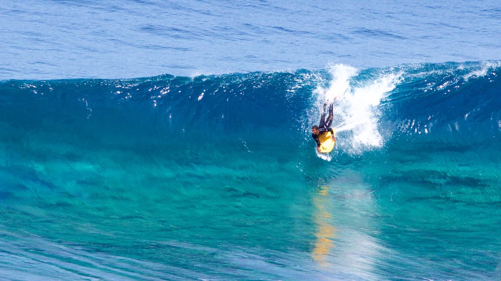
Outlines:
{"type": "Polygon", "coordinates": [[[496,279],[499,72],[486,61],[2,81],[0,270],[496,279]],[[325,102],[338,141],[318,155],[310,128],[325,102]]]}

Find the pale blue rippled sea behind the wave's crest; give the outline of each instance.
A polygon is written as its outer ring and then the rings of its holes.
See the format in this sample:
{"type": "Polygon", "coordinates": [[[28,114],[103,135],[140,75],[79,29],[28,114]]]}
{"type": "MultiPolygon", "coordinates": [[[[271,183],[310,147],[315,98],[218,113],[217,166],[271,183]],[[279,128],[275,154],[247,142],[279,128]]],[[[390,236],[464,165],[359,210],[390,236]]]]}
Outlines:
{"type": "Polygon", "coordinates": [[[0,79],[501,58],[498,0],[31,0],[0,15],[0,79]]]}

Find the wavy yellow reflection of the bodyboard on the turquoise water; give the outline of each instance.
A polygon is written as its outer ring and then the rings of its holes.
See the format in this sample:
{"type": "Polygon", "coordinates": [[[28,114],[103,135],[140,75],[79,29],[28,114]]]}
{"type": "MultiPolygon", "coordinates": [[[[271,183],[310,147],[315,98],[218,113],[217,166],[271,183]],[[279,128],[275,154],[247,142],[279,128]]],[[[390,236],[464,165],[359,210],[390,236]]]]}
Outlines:
{"type": "Polygon", "coordinates": [[[315,247],[312,251],[312,257],[320,265],[326,266],[327,262],[325,261],[325,257],[329,254],[330,248],[335,246],[332,238],[334,238],[336,228],[329,223],[332,215],[326,210],[326,205],[329,203],[329,187],[320,187],[318,193],[320,196],[313,202],[314,206],[318,210],[318,214],[315,218],[318,230],[315,233],[317,239],[315,241],[315,247]]]}

